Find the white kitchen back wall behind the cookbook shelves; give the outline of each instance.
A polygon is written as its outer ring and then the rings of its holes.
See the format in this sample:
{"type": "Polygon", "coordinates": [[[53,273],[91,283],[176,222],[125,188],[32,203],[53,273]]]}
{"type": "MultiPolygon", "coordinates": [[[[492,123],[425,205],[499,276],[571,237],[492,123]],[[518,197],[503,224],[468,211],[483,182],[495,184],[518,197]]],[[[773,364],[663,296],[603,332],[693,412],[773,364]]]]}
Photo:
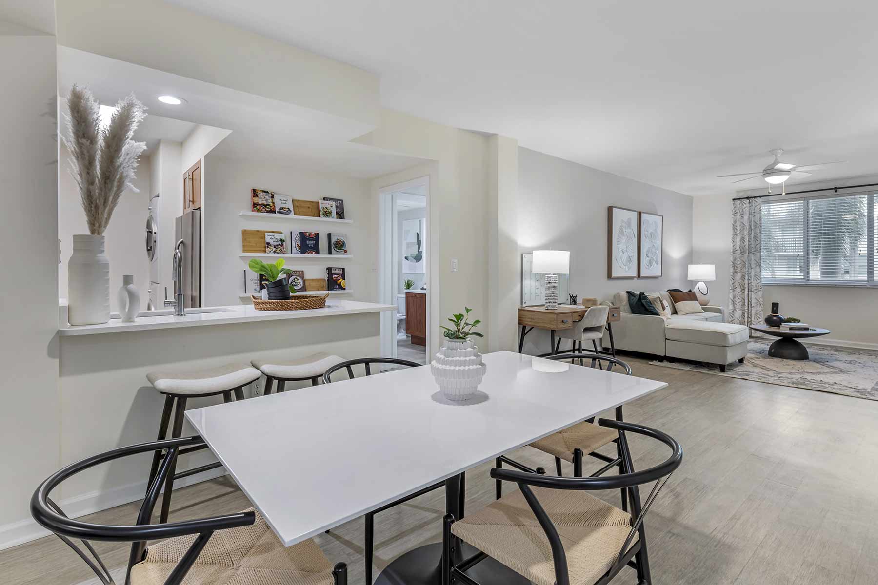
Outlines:
{"type": "Polygon", "coordinates": [[[263,165],[250,161],[232,161],[208,154],[205,175],[203,265],[205,306],[239,304],[243,292],[243,274],[247,260],[241,254],[241,230],[278,230],[287,234],[295,230],[320,232],[320,252],[326,253],[327,232],[345,233],[349,238],[350,260],[296,260],[287,258],[286,266],[305,270],[306,278],[326,278],[327,267],[345,268],[352,294],[345,298],[374,301],[378,295],[376,275],[372,271],[378,241],[377,215],[371,209],[370,182],[343,175],[313,173],[292,167],[263,165]],[[352,224],[318,224],[278,218],[241,218],[250,210],[250,189],[267,189],[296,199],[318,200],[321,196],[344,200],[344,216],[352,224]]]}

